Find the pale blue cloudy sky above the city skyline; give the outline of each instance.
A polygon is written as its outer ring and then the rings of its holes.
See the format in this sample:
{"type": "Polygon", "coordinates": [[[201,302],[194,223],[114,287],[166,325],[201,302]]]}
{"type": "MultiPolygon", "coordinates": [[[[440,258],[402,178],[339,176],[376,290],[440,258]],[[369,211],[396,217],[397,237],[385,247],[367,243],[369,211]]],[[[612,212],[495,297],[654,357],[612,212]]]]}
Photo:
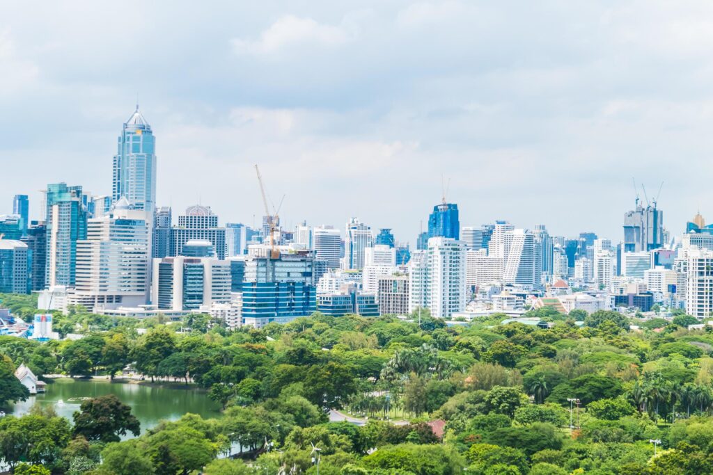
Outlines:
{"type": "Polygon", "coordinates": [[[710,1],[6,1],[0,214],[48,182],[111,191],[140,108],[158,201],[282,222],[359,216],[622,236],[632,177],[678,232],[713,221],[710,1]]]}

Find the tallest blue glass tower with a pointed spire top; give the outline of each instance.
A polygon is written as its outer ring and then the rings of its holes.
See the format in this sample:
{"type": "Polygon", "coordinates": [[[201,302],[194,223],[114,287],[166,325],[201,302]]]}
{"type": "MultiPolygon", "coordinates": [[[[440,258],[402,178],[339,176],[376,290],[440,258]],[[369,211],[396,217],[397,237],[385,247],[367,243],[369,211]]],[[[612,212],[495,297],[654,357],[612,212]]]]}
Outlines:
{"type": "Polygon", "coordinates": [[[143,115],[136,110],[124,123],[113,161],[111,198],[116,203],[121,197],[129,206],[150,213],[156,207],[155,137],[143,115]]]}

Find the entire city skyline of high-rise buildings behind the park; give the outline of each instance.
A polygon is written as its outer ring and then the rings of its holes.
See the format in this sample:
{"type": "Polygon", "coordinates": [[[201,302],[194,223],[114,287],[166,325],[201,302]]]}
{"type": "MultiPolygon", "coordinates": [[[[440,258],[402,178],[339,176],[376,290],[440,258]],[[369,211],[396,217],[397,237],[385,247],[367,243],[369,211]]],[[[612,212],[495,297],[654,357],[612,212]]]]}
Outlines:
{"type": "Polygon", "coordinates": [[[29,220],[27,195],[16,195],[12,213],[0,216],[0,293],[39,292],[39,307],[52,310],[210,313],[231,328],[317,310],[467,319],[658,304],[698,318],[713,313],[713,225],[697,214],[672,237],[655,200],[636,199],[617,241],[594,232],[552,236],[543,224],[506,220],[461,226],[458,205],[443,197],[411,249],[358,217],[344,229],[284,229],[264,216],[253,229],[222,224],[196,204],[174,221],[173,209],[156,202],[156,139],[138,106],[116,147],[108,194],[48,184],[39,221],[29,220]]]}

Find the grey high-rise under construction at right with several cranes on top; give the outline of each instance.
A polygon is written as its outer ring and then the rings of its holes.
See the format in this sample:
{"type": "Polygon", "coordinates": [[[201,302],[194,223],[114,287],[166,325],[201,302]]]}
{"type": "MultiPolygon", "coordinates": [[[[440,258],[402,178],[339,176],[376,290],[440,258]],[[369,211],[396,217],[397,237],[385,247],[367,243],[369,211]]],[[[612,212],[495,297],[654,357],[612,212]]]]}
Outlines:
{"type": "Polygon", "coordinates": [[[658,249],[664,244],[664,212],[647,204],[642,207],[636,199],[633,211],[624,214],[624,252],[658,249]]]}

